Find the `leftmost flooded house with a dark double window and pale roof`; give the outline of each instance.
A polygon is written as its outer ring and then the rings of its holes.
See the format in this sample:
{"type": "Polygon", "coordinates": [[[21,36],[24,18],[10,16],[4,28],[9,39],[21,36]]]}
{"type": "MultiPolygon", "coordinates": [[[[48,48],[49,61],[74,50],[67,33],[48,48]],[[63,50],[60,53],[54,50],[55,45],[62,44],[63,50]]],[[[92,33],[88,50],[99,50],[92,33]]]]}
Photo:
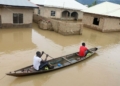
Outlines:
{"type": "Polygon", "coordinates": [[[0,0],[0,28],[31,27],[34,8],[28,0],[0,0]]]}

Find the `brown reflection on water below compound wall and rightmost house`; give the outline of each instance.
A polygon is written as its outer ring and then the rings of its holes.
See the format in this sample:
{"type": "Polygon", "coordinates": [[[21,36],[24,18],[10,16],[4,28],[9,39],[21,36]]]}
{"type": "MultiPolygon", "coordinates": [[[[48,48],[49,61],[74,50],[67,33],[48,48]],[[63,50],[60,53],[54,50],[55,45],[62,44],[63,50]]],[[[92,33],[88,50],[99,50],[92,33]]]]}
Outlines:
{"type": "Polygon", "coordinates": [[[56,44],[59,44],[63,47],[79,44],[83,41],[91,45],[101,45],[101,46],[107,46],[114,43],[119,43],[120,41],[119,32],[101,33],[99,31],[91,30],[88,28],[84,28],[82,35],[72,35],[72,36],[63,36],[53,31],[44,31],[38,28],[34,28],[34,30],[40,35],[45,36],[46,38],[54,41],[56,44]]]}

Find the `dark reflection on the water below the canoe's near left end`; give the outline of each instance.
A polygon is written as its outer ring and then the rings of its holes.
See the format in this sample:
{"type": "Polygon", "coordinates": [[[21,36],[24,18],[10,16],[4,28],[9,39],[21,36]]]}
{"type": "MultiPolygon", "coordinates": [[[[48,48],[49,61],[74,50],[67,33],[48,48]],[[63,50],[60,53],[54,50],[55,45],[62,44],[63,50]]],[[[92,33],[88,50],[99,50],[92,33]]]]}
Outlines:
{"type": "Polygon", "coordinates": [[[33,85],[33,86],[42,86],[45,82],[47,82],[52,74],[43,74],[43,75],[34,75],[34,76],[27,76],[27,77],[20,77],[16,78],[12,83],[10,83],[10,86],[14,85],[33,85]]]}

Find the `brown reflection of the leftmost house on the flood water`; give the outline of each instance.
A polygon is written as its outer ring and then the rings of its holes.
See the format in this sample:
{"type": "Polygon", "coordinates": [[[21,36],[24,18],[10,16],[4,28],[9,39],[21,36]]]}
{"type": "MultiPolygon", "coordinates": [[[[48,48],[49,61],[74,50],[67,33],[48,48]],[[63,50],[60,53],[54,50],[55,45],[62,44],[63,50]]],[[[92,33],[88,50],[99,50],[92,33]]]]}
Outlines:
{"type": "Polygon", "coordinates": [[[36,46],[32,43],[32,29],[15,28],[0,30],[0,51],[16,51],[33,49],[36,46]]]}

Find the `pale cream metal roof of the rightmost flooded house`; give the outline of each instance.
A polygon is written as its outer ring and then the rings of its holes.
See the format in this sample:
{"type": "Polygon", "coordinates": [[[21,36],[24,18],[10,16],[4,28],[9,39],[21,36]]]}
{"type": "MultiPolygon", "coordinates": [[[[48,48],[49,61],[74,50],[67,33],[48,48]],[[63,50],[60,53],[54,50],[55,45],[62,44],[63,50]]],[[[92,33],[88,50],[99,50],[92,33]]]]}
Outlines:
{"type": "Polygon", "coordinates": [[[101,4],[95,5],[88,9],[83,10],[83,12],[100,14],[106,16],[114,16],[120,17],[120,5],[111,3],[111,2],[103,2],[101,4]]]}

